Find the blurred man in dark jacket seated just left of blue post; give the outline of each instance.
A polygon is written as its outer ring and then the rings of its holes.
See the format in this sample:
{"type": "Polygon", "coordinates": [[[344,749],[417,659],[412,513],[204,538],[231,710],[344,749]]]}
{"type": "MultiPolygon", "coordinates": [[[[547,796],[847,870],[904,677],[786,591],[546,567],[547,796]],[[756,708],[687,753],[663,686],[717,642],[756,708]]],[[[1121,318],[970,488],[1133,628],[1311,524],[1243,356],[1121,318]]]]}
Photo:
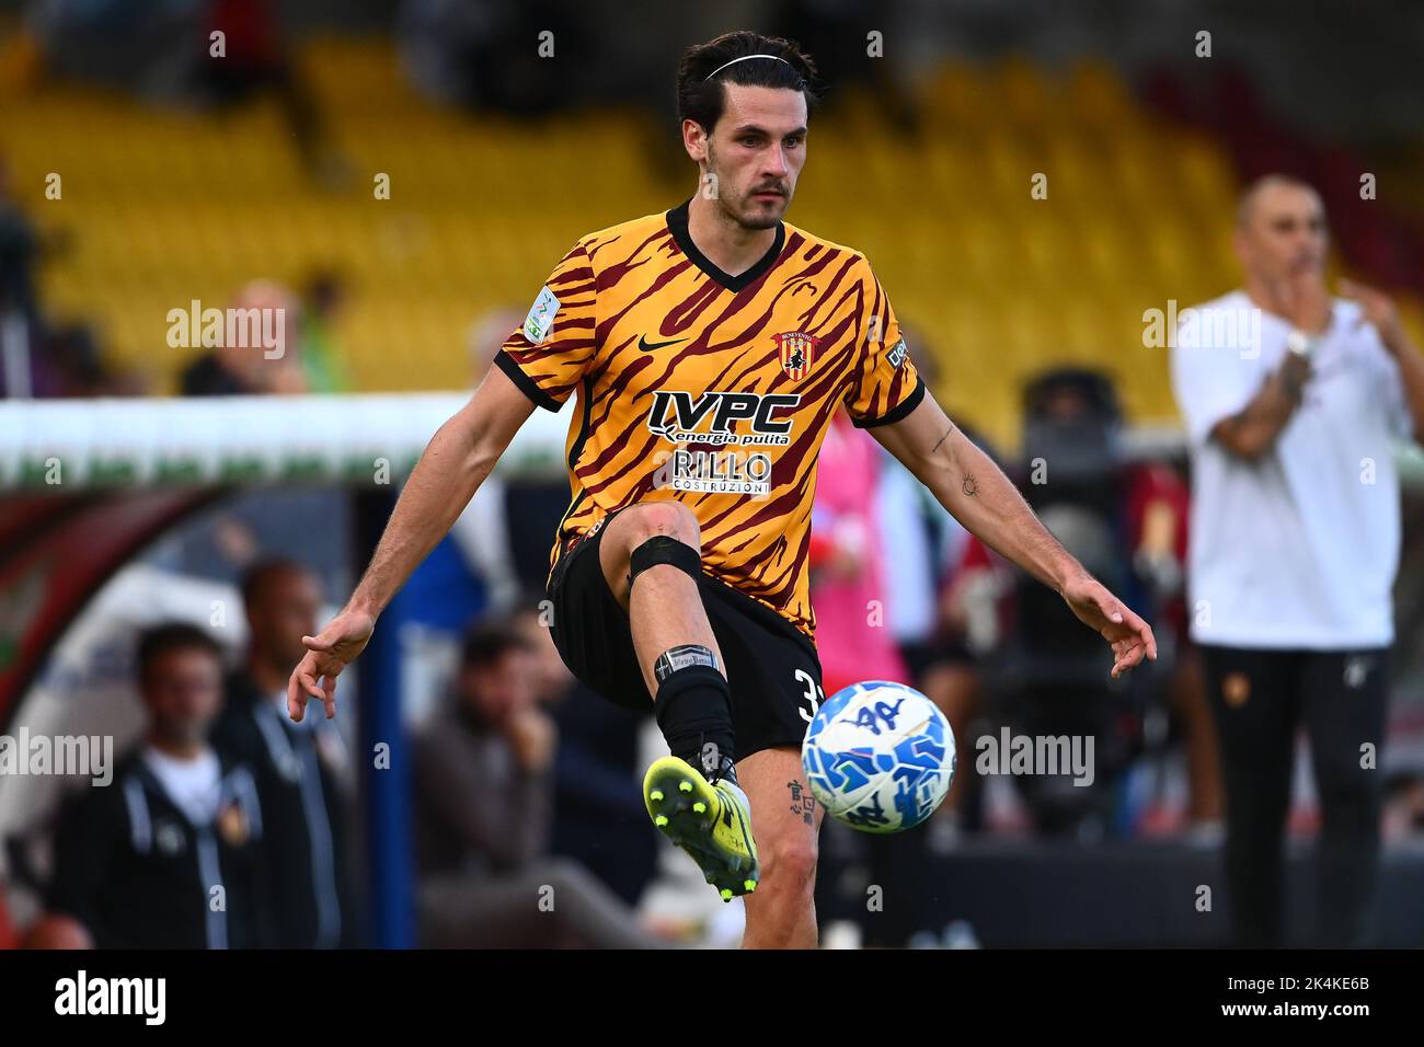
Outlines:
{"type": "Polygon", "coordinates": [[[356,946],[350,883],[350,756],[335,721],[286,715],[286,665],[322,607],[316,575],[292,560],[265,560],[242,577],[248,650],[228,675],[214,729],[219,754],[252,768],[275,885],[275,944],[356,946]]]}

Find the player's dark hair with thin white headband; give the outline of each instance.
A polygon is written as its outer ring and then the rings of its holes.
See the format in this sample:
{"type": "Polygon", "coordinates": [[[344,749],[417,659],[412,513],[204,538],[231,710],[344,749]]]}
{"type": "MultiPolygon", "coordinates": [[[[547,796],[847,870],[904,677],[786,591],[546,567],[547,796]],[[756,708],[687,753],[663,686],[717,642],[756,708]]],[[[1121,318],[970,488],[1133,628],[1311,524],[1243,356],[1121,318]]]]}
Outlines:
{"type": "Polygon", "coordinates": [[[816,108],[816,63],[803,54],[793,40],[763,37],[742,30],[726,33],[705,44],[689,47],[678,63],[678,120],[693,120],[712,134],[722,118],[726,93],[722,84],[745,87],[785,87],[806,95],[807,115],[816,108]],[[752,54],[772,54],[775,58],[750,58],[752,54]],[[726,66],[726,68],[722,68],[726,66]],[[712,74],[716,73],[715,77],[712,74]],[[711,80],[708,77],[712,77],[711,80]]]}

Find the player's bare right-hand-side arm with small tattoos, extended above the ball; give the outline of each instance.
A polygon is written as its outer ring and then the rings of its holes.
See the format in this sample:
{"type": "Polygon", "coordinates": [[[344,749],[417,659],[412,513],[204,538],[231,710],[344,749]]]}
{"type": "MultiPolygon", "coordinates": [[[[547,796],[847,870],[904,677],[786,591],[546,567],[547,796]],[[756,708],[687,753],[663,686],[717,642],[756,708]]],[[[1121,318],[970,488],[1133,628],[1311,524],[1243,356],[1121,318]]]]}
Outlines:
{"type": "Polygon", "coordinates": [[[870,430],[954,519],[984,544],[1054,588],[1112,645],[1112,675],[1156,658],[1152,628],[1088,574],[1034,516],[1018,489],[926,395],[899,422],[870,430]]]}

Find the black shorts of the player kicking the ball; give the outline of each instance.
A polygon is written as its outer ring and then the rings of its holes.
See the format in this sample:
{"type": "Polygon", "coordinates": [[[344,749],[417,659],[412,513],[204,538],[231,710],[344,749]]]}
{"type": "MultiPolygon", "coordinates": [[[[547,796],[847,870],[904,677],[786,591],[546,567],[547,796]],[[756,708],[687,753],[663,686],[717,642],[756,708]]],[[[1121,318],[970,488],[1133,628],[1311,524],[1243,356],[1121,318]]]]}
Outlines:
{"type": "MultiPolygon", "coordinates": [[[[642,711],[652,704],[652,695],[638,668],[628,613],[614,598],[598,561],[608,519],[554,564],[548,581],[554,605],[550,632],[575,677],[608,701],[642,711]]],[[[698,587],[732,691],[736,758],[778,745],[800,748],[812,715],[826,699],[816,645],[731,585],[699,574],[698,587]]]]}

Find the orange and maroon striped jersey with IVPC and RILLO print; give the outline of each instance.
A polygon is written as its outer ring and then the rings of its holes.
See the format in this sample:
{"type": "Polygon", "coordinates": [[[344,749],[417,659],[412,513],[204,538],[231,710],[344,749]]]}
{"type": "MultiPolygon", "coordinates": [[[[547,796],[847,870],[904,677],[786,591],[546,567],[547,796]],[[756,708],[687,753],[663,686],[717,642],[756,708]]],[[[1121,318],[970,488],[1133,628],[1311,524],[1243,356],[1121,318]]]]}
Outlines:
{"type": "Polygon", "coordinates": [[[832,412],[886,424],[924,397],[864,255],[783,222],[731,276],[693,245],[688,204],[584,236],[496,363],[541,407],[578,395],[554,561],[609,513],[676,500],[702,527],[703,571],[807,637],[832,412]]]}

